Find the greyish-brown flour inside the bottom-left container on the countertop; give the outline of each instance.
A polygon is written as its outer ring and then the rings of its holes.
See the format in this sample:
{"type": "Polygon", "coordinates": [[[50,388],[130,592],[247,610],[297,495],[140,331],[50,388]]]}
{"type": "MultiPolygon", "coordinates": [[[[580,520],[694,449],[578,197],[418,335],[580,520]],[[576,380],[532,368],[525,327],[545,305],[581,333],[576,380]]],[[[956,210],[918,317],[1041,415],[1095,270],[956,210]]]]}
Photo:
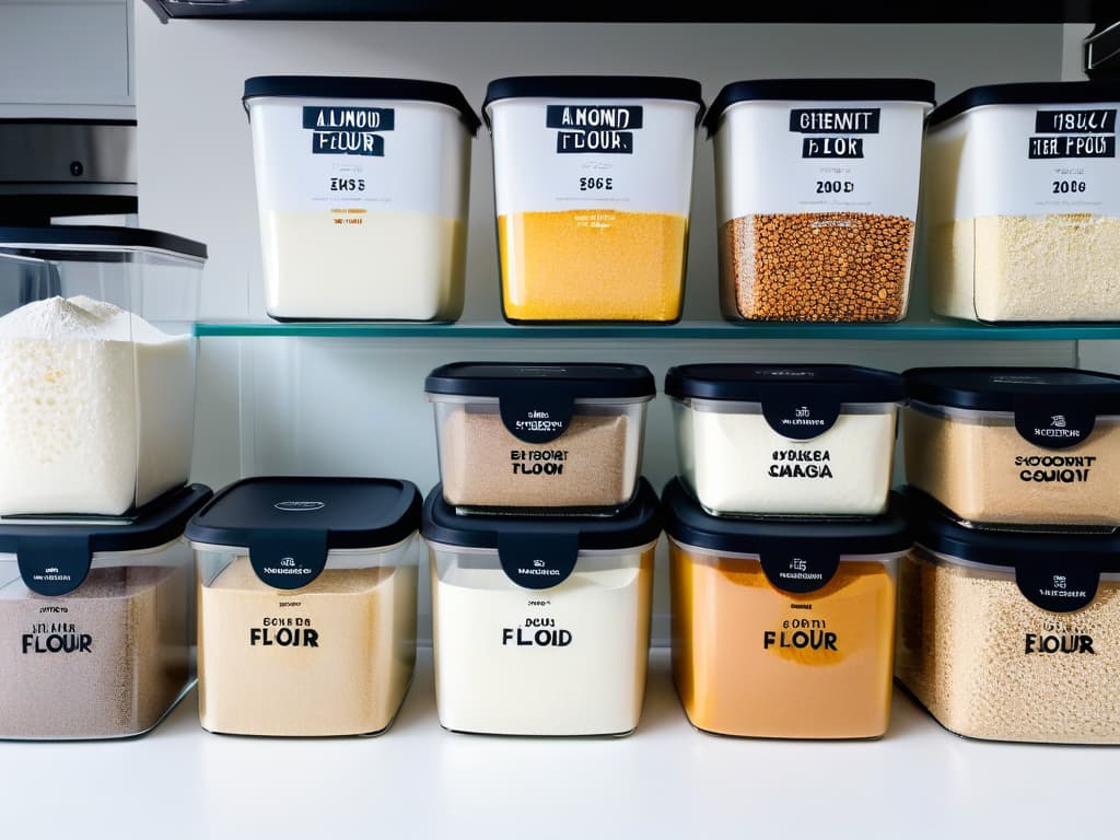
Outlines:
{"type": "Polygon", "coordinates": [[[189,566],[94,568],[48,598],[0,587],[0,737],[116,738],[153,727],[192,678],[189,566]]]}

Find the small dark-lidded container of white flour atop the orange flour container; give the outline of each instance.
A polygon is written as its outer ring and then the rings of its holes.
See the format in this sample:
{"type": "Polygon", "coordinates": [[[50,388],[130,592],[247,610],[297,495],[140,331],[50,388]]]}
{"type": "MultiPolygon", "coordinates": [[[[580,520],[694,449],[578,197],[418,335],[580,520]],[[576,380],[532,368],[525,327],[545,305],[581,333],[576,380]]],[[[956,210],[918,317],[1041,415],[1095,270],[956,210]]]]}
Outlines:
{"type": "Polygon", "coordinates": [[[887,508],[902,376],[851,365],[671,367],[681,482],[713,514],[887,508]]]}

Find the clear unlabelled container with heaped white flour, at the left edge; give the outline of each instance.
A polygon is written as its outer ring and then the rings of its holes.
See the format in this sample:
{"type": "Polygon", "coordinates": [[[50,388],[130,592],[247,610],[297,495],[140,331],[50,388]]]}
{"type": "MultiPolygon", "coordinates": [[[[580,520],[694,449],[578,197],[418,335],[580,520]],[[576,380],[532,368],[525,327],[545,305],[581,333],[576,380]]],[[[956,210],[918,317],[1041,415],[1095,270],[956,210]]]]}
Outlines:
{"type": "Polygon", "coordinates": [[[0,516],[119,516],[186,484],[206,246],[0,227],[0,516]]]}

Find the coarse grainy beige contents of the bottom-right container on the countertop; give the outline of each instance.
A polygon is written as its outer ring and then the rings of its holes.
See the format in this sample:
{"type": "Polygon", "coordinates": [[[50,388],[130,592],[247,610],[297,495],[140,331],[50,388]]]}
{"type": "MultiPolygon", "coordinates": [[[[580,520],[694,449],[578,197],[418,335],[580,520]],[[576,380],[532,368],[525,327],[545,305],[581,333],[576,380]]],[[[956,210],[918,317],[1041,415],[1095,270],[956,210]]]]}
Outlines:
{"type": "MultiPolygon", "coordinates": [[[[915,549],[899,576],[897,675],[943,726],[973,738],[1120,744],[1120,582],[1075,613],[1036,607],[1010,570],[915,549]],[[1092,653],[1027,652],[1027,636],[1090,636],[1092,653]]],[[[1072,646],[1072,645],[1067,645],[1072,646]]]]}

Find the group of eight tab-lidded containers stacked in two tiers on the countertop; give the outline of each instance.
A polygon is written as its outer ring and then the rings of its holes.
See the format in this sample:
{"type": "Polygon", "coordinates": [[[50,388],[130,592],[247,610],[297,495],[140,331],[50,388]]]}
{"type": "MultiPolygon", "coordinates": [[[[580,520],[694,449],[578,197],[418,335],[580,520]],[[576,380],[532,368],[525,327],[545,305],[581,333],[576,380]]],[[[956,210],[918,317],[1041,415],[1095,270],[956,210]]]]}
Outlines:
{"type": "Polygon", "coordinates": [[[631,732],[664,535],[673,680],[700,730],[880,737],[897,680],[964,736],[1120,743],[1120,377],[699,364],[664,392],[680,469],[660,494],[645,367],[458,363],[426,382],[426,500],[259,477],[127,522],[0,522],[0,737],[147,731],[195,650],[207,730],[383,731],[424,547],[444,727],[631,732]]]}

